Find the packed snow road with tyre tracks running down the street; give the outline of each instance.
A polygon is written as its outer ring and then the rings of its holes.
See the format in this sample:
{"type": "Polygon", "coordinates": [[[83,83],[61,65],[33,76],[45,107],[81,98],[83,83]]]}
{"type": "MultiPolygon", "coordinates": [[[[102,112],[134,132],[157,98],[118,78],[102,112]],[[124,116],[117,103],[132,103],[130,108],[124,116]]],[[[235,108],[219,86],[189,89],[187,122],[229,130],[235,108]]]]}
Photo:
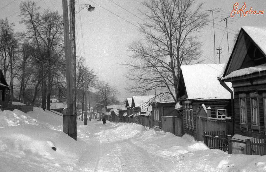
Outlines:
{"type": "Polygon", "coordinates": [[[155,157],[155,155],[150,154],[147,150],[134,144],[133,142],[136,141],[133,138],[121,140],[121,137],[112,135],[114,133],[111,133],[110,129],[113,129],[114,125],[116,124],[108,123],[103,126],[101,122],[92,120],[88,122],[87,127],[80,126],[91,132],[88,134],[89,139],[84,140],[90,146],[90,149],[87,150],[89,154],[87,164],[80,168],[80,171],[173,170],[174,163],[169,164],[168,158],[155,157]]]}

